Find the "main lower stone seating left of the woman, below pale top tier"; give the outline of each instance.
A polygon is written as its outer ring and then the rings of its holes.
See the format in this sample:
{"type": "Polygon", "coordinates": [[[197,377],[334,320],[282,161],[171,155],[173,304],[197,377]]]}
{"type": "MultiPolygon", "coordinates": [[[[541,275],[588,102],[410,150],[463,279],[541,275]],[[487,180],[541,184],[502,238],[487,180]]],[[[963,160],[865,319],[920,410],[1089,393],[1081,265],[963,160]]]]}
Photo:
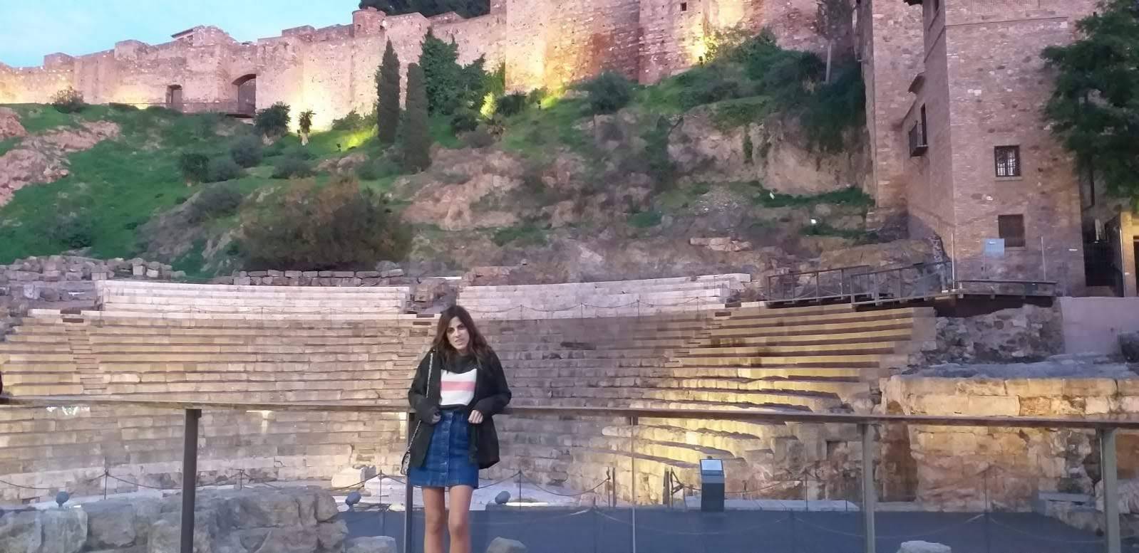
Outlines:
{"type": "MultiPolygon", "coordinates": [[[[434,325],[433,319],[182,320],[33,311],[0,344],[0,371],[6,390],[17,396],[403,404],[434,325]]],[[[401,453],[391,444],[404,439],[394,414],[206,415],[199,463],[206,484],[237,481],[238,470],[245,479],[282,480],[328,480],[353,464],[391,471],[401,453]]],[[[177,411],[3,408],[0,478],[101,492],[96,477],[107,467],[128,482],[177,487],[181,436],[177,411]]],[[[113,480],[110,489],[133,485],[113,480]]],[[[48,496],[0,486],[0,502],[48,496]]]]}

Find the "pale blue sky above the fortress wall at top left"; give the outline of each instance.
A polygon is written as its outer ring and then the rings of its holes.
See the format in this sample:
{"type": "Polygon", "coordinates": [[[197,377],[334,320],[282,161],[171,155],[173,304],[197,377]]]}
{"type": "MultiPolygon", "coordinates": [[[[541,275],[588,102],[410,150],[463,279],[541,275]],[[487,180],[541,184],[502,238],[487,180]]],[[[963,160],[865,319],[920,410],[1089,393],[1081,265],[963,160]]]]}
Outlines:
{"type": "Polygon", "coordinates": [[[41,65],[43,56],[148,44],[195,25],[215,25],[239,41],[276,36],[300,25],[352,23],[358,0],[0,0],[0,61],[41,65]]]}

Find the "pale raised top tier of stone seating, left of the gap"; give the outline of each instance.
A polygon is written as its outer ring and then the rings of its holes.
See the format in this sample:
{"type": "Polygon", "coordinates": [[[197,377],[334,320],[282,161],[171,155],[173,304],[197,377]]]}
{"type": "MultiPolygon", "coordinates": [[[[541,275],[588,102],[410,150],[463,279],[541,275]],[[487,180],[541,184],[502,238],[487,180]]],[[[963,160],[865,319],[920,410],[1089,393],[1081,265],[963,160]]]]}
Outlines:
{"type": "Polygon", "coordinates": [[[104,316],[161,314],[185,319],[378,319],[404,312],[408,287],[270,287],[133,280],[97,283],[104,316]]]}

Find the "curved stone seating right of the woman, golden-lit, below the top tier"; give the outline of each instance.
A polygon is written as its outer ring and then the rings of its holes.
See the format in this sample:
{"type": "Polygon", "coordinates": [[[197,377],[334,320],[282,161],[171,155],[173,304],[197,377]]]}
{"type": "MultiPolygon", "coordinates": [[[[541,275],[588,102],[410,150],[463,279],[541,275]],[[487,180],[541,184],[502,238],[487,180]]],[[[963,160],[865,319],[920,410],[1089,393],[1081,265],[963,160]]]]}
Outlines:
{"type": "MultiPolygon", "coordinates": [[[[933,313],[752,306],[486,328],[519,405],[829,412],[869,408],[870,381],[933,339],[933,313]]],[[[659,498],[667,470],[694,481],[699,459],[729,463],[730,490],[757,489],[772,473],[793,472],[796,463],[820,461],[836,444],[858,439],[854,428],[829,424],[642,419],[631,428],[622,420],[518,416],[502,424],[500,436],[525,444],[511,468],[577,487],[604,479],[608,467],[628,472],[636,436],[642,501],[659,498]]]]}

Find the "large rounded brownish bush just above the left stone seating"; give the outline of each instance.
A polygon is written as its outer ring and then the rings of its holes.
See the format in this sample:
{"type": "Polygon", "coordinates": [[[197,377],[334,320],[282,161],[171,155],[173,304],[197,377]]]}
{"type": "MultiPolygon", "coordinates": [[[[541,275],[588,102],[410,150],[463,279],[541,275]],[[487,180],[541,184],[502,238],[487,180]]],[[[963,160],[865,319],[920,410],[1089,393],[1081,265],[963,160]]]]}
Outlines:
{"type": "Polygon", "coordinates": [[[349,176],[320,187],[297,180],[243,220],[238,250],[248,269],[361,269],[401,259],[410,237],[387,201],[349,176]]]}

